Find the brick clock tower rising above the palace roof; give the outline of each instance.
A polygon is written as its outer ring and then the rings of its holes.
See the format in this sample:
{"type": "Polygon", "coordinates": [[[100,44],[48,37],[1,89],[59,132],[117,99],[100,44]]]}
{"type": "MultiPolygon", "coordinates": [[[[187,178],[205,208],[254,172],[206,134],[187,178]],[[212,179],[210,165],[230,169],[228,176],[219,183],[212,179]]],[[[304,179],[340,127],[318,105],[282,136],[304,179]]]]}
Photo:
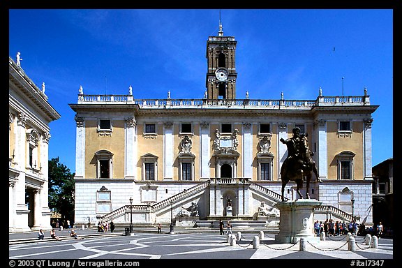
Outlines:
{"type": "Polygon", "coordinates": [[[207,98],[236,98],[235,52],[237,41],[234,36],[223,36],[219,22],[218,36],[209,36],[207,41],[207,98]]]}

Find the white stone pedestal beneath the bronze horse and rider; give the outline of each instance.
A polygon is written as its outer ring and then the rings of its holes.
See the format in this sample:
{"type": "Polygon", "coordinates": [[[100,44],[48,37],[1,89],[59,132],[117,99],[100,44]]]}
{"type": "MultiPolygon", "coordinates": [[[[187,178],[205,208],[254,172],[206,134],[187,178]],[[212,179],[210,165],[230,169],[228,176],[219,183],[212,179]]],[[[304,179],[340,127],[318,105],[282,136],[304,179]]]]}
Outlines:
{"type": "Polygon", "coordinates": [[[281,243],[296,244],[304,237],[307,241],[318,242],[320,237],[314,233],[314,208],[322,202],[315,199],[278,202],[275,207],[281,211],[279,232],[275,240],[281,243]]]}

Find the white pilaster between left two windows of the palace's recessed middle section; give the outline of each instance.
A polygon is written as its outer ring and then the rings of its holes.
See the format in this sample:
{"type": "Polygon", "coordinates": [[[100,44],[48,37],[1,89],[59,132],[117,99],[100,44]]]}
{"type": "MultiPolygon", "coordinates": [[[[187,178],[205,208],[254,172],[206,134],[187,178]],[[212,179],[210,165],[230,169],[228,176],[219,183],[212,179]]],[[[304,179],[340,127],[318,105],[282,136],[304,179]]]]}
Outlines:
{"type": "Polygon", "coordinates": [[[173,124],[166,122],[164,124],[163,135],[163,179],[173,180],[173,124]]]}

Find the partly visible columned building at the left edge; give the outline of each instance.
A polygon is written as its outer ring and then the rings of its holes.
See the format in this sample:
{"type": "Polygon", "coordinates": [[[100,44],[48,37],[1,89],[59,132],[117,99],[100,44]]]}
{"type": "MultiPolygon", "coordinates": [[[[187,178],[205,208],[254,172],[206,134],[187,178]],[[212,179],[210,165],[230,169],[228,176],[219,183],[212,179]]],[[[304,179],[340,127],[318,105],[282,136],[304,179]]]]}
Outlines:
{"type": "Polygon", "coordinates": [[[8,230],[50,230],[48,151],[59,113],[20,66],[8,59],[8,230]]]}

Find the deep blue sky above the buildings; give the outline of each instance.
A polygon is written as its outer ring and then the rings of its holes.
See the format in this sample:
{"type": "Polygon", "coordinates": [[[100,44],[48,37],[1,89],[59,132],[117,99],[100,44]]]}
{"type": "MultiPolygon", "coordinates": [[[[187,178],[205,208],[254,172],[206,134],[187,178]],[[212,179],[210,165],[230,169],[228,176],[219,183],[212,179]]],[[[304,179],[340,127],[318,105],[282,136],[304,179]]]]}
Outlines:
{"type": "MultiPolygon", "coordinates": [[[[373,113],[373,165],[393,157],[392,9],[223,9],[237,40],[237,98],[315,100],[362,96],[373,113]],[[342,77],[343,80],[342,80],[342,77]]],[[[61,118],[50,123],[49,158],[75,172],[75,112],[84,94],[202,98],[208,36],[218,9],[9,10],[9,56],[61,118]]]]}

